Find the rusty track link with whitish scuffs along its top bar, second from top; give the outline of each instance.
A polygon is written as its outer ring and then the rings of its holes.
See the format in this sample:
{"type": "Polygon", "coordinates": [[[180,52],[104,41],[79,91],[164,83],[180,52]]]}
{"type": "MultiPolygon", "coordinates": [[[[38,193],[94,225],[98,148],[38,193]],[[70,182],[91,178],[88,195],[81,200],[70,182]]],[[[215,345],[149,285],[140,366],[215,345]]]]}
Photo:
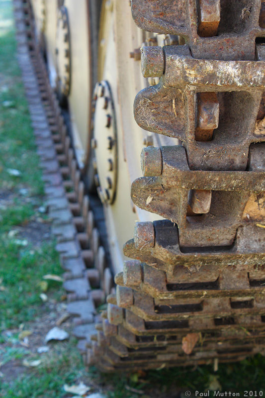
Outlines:
{"type": "MultiPolygon", "coordinates": [[[[160,84],[136,97],[137,123],[183,141],[193,170],[245,170],[248,148],[257,142],[254,131],[264,91],[264,61],[199,60],[191,57],[187,46],[165,47],[164,52],[166,69],[160,84]],[[219,118],[214,101],[212,111],[204,111],[208,127],[216,127],[206,145],[196,140],[197,102],[201,93],[212,96],[212,92],[219,102],[219,118]]],[[[258,138],[264,139],[264,135],[258,138]]]]}

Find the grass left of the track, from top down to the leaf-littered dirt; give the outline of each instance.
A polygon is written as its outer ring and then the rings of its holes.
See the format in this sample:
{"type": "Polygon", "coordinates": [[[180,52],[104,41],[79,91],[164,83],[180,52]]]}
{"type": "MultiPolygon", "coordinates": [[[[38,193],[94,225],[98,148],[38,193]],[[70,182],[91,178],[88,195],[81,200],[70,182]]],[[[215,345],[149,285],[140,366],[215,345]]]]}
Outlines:
{"type": "MultiPolygon", "coordinates": [[[[11,18],[10,1],[0,2],[0,15],[11,18]]],[[[7,204],[0,207],[0,328],[5,329],[33,319],[41,303],[38,283],[43,275],[62,270],[54,242],[33,250],[30,244],[17,244],[17,236],[8,236],[15,226],[38,217],[44,185],[16,62],[14,30],[11,25],[6,29],[0,25],[0,32],[0,195],[7,197],[7,204]],[[19,176],[8,169],[18,170],[19,176]],[[21,189],[25,195],[20,194],[21,189]]]]}

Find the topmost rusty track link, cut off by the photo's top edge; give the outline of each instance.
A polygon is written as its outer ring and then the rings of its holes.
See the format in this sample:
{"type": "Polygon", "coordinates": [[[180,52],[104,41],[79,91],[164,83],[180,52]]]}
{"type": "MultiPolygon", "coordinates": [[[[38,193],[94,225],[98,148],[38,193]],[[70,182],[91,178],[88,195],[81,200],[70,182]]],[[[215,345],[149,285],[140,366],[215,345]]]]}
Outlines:
{"type": "MultiPolygon", "coordinates": [[[[206,6],[207,1],[201,1],[201,4],[206,6]]],[[[161,0],[159,5],[157,0],[132,0],[131,5],[133,18],[140,28],[184,37],[195,58],[254,60],[255,40],[265,36],[264,3],[261,10],[260,0],[222,1],[218,36],[215,37],[199,36],[195,0],[173,0],[170,4],[161,0]]],[[[213,15],[216,20],[217,12],[213,15]]]]}

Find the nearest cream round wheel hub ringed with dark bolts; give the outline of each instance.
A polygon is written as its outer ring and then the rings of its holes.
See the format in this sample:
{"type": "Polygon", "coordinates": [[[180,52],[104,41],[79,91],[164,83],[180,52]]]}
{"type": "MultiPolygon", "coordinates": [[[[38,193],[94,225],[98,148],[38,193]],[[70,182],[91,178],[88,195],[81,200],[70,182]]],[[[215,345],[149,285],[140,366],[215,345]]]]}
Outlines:
{"type": "Polygon", "coordinates": [[[93,95],[93,138],[95,184],[100,200],[113,203],[117,182],[117,134],[114,105],[109,84],[97,83],[93,95]]]}

